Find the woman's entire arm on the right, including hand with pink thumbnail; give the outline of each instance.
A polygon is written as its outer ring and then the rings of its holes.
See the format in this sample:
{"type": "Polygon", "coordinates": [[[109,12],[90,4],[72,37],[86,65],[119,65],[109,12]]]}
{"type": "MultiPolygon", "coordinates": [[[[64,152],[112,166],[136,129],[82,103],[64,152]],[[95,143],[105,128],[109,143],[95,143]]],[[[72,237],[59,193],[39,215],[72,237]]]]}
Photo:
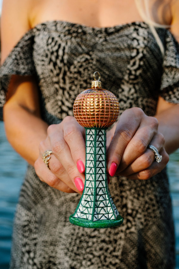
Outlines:
{"type": "MultiPolygon", "coordinates": [[[[172,0],[171,10],[170,30],[179,42],[179,1],[172,0]]],[[[108,172],[113,175],[117,170],[116,174],[131,179],[148,179],[166,166],[168,154],[179,147],[179,105],[159,97],[155,117],[147,117],[138,108],[124,112],[111,130],[108,172]],[[161,163],[154,162],[154,153],[147,149],[149,143],[158,148],[161,163]]]]}

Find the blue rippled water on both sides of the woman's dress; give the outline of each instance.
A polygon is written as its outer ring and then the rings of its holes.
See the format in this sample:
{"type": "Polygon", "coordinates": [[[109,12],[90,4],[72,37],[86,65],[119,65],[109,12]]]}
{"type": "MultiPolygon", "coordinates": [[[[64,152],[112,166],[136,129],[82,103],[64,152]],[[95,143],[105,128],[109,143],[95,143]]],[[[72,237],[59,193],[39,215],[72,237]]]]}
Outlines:
{"type": "MultiPolygon", "coordinates": [[[[8,269],[13,217],[27,163],[7,142],[2,122],[0,153],[0,268],[8,269]]],[[[179,269],[179,150],[170,155],[168,172],[175,220],[176,268],[179,269]]]]}

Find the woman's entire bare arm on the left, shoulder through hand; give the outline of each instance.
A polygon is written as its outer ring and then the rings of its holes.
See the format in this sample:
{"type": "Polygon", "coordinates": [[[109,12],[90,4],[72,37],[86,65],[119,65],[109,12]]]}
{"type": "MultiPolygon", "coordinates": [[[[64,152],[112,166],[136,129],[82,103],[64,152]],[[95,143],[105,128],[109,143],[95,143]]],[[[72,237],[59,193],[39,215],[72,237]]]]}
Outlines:
{"type": "MultiPolygon", "coordinates": [[[[30,4],[30,0],[3,2],[1,63],[30,29],[30,4]]],[[[33,77],[22,76],[12,77],[3,114],[8,140],[21,156],[35,165],[40,179],[61,191],[81,193],[84,174],[78,171],[76,162],[85,163],[84,129],[74,117],[67,117],[62,123],[48,128],[41,119],[36,81],[33,77]],[[43,152],[49,149],[54,153],[50,170],[42,160],[43,152]]]]}

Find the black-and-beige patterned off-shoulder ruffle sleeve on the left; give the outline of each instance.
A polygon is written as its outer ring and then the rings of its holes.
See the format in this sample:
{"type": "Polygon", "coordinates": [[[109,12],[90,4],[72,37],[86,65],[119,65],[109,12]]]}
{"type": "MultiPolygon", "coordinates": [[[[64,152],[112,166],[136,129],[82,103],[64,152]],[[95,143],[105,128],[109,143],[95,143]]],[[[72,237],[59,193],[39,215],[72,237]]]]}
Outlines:
{"type": "Polygon", "coordinates": [[[29,76],[36,73],[33,62],[33,29],[19,40],[0,68],[0,120],[12,75],[29,76]]]}

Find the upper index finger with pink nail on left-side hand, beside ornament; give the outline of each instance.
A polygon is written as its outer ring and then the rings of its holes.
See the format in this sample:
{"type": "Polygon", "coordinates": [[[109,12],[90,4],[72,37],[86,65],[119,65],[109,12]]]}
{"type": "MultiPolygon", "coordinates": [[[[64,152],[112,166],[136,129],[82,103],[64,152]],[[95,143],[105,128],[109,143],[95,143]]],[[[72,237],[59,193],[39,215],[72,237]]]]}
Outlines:
{"type": "Polygon", "coordinates": [[[64,124],[63,134],[78,171],[84,173],[86,155],[84,140],[85,129],[75,120],[64,124]]]}

